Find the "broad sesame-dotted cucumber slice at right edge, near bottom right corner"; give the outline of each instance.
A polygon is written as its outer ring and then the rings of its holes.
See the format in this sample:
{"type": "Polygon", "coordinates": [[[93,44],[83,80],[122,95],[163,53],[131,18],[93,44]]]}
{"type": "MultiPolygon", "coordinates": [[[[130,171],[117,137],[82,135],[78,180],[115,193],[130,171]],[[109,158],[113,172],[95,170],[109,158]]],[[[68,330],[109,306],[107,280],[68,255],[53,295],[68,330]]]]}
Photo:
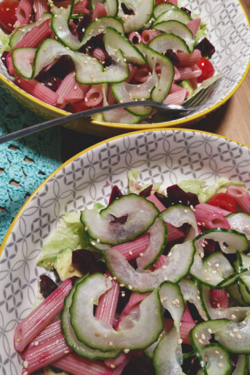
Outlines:
{"type": "Polygon", "coordinates": [[[215,340],[231,353],[250,354],[250,312],[242,322],[229,321],[221,326],[215,333],[215,340]]]}

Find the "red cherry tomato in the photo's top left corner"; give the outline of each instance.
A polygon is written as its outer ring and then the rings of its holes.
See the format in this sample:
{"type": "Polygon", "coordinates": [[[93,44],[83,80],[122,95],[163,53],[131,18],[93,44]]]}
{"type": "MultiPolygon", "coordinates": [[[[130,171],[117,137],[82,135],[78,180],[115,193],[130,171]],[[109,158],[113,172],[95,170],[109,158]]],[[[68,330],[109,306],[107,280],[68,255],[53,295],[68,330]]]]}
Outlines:
{"type": "Polygon", "coordinates": [[[0,26],[5,31],[12,31],[17,21],[16,9],[19,4],[17,0],[3,0],[0,3],[0,26]]]}

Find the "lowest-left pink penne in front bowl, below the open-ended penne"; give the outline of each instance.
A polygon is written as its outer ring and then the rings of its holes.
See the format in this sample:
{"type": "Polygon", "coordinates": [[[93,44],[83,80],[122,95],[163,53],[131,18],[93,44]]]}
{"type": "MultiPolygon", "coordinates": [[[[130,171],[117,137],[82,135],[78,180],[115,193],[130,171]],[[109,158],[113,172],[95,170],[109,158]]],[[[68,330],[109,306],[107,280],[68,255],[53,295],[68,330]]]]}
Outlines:
{"type": "Polygon", "coordinates": [[[69,348],[65,342],[63,333],[59,333],[51,340],[46,340],[38,346],[33,346],[27,350],[24,356],[24,368],[22,374],[32,374],[38,369],[49,365],[51,362],[65,357],[65,354],[71,353],[73,350],[69,348]]]}

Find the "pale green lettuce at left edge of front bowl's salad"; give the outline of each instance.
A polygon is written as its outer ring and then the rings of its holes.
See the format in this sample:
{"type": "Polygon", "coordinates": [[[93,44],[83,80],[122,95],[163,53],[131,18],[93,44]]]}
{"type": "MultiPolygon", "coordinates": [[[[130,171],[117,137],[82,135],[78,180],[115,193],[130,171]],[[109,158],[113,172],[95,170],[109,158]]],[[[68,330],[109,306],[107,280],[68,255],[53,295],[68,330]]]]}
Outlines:
{"type": "Polygon", "coordinates": [[[67,247],[72,250],[88,247],[88,235],[81,224],[80,213],[67,213],[63,216],[56,232],[44,244],[38,266],[51,270],[60,251],[67,247]]]}

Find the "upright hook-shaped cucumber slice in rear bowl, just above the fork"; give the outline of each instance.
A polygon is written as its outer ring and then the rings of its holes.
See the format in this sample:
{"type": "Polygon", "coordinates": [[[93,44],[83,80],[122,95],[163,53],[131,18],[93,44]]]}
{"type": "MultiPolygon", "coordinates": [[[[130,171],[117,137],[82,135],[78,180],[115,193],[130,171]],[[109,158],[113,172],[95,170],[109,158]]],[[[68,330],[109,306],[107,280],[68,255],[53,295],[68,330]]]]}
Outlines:
{"type": "Polygon", "coordinates": [[[140,43],[138,48],[146,56],[147,63],[153,71],[157,64],[160,65],[161,74],[156,87],[151,92],[151,99],[153,101],[162,102],[165,97],[167,97],[174,80],[174,65],[169,58],[153,51],[153,49],[145,46],[143,43],[140,43]]]}

